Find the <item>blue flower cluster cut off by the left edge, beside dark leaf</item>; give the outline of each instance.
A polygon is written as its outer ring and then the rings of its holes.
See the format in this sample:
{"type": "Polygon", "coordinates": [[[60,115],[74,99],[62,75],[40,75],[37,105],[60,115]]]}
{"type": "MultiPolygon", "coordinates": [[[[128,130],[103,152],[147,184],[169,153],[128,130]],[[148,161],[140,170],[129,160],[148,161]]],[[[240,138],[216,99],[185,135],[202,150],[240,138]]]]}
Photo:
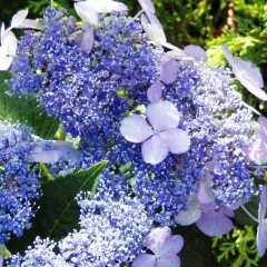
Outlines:
{"type": "Polygon", "coordinates": [[[0,244],[30,228],[40,196],[39,171],[29,162],[33,139],[28,128],[0,123],[0,244]]]}

